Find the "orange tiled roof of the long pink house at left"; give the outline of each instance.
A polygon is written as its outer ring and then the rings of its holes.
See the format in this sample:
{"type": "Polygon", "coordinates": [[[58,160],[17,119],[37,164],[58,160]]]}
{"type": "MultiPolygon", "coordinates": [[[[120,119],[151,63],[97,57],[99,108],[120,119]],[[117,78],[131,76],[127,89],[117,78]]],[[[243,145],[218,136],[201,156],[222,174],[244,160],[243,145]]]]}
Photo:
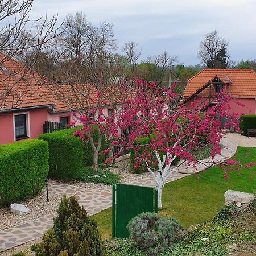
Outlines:
{"type": "MultiPolygon", "coordinates": [[[[118,100],[114,100],[120,102],[121,94],[113,93],[114,91],[115,88],[112,88],[108,95],[105,95],[106,105],[110,98],[114,97],[119,97],[118,100]]],[[[82,106],[89,107],[96,102],[96,98],[96,86],[92,84],[49,85],[38,73],[28,71],[24,65],[0,53],[0,111],[52,105],[54,112],[67,112],[80,109],[82,106]],[[1,65],[8,71],[3,71],[1,65]],[[3,97],[8,90],[10,92],[3,97]],[[85,95],[82,95],[81,90],[85,95]],[[5,100],[1,100],[1,97],[5,100]]]]}

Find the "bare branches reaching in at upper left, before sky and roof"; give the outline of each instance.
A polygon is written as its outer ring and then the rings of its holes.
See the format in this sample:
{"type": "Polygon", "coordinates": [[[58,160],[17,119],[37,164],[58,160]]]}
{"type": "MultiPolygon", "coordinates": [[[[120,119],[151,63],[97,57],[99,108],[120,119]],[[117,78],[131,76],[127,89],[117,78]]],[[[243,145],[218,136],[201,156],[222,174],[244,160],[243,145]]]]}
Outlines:
{"type": "Polygon", "coordinates": [[[30,19],[32,4],[33,0],[0,2],[0,108],[17,108],[22,103],[22,96],[31,93],[31,79],[40,84],[40,76],[31,72],[38,63],[37,53],[54,45],[54,39],[59,35],[57,17],[30,19]],[[26,30],[25,27],[31,28],[26,30]],[[10,61],[11,58],[22,59],[31,51],[35,54],[28,65],[13,65],[14,62],[10,61]]]}

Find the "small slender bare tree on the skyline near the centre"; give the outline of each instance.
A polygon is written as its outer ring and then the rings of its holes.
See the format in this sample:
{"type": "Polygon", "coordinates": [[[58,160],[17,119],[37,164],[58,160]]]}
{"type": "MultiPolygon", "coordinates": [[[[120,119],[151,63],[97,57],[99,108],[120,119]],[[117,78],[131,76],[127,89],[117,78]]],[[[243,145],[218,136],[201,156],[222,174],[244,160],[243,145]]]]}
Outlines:
{"type": "Polygon", "coordinates": [[[125,52],[126,57],[129,59],[131,73],[134,73],[137,66],[137,61],[141,56],[142,48],[138,49],[138,44],[131,41],[125,43],[122,51],[125,52]]]}

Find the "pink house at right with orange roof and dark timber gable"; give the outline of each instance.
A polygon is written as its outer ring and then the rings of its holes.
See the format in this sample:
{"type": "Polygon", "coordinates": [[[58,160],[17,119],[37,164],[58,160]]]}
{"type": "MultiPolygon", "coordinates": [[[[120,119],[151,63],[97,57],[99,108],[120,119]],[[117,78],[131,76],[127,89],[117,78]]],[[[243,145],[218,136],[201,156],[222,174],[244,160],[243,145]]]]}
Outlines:
{"type": "Polygon", "coordinates": [[[256,73],[253,69],[203,69],[188,80],[183,104],[188,109],[192,105],[210,106],[221,90],[233,98],[230,112],[256,114],[256,73]]]}

